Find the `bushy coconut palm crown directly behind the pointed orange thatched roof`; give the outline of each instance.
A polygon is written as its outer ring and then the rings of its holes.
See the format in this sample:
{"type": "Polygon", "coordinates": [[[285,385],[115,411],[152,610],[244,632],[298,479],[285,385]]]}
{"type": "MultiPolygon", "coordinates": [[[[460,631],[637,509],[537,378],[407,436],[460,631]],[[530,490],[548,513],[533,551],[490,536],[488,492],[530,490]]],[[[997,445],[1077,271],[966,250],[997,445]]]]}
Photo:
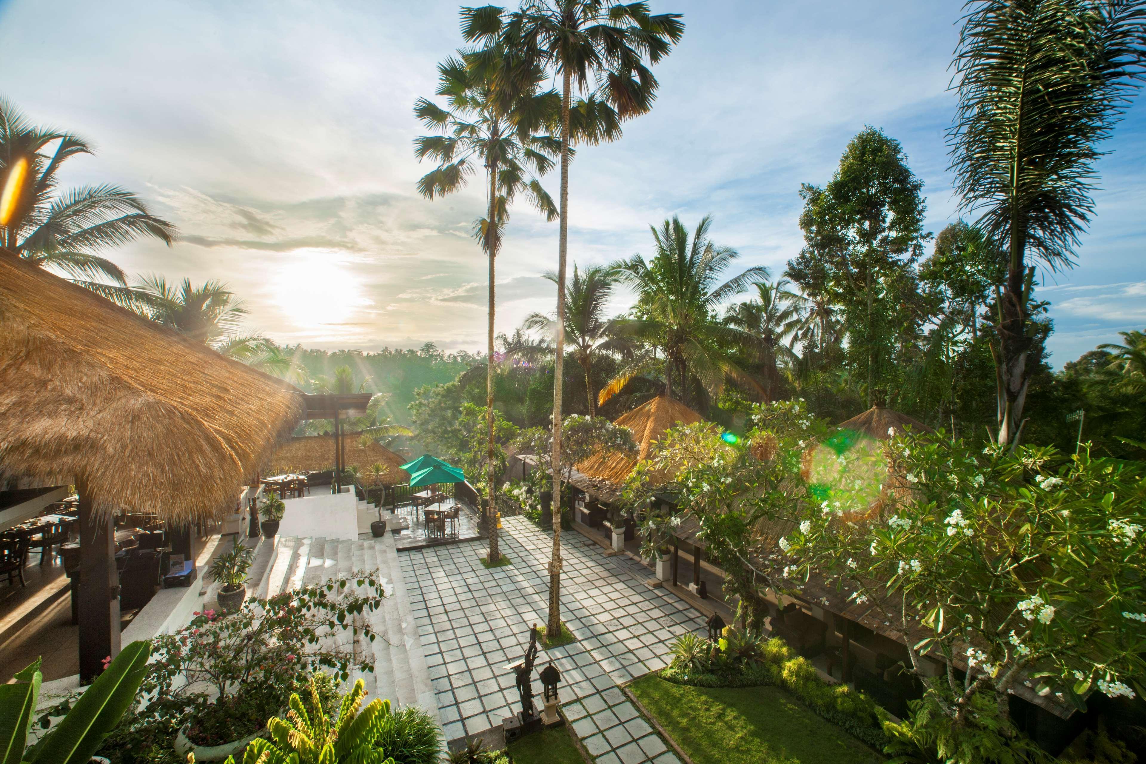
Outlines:
{"type": "MultiPolygon", "coordinates": [[[[615,331],[660,348],[665,355],[665,394],[669,397],[674,375],[682,393],[686,375],[714,396],[723,392],[725,379],[760,387],[724,348],[739,346],[759,354],[763,339],[722,323],[716,318],[716,309],[751,284],[768,278],[768,269],[753,266],[719,283],[721,274],[740,255],[731,247],[713,244],[708,239],[711,226],[712,218],[701,218],[690,241],[689,230],[674,215],[659,230],[651,228],[657,252],[651,261],[635,254],[613,266],[620,281],[637,293],[636,317],[617,320],[615,331]]],[[[601,392],[601,403],[646,368],[647,361],[641,359],[622,368],[601,392]]]]}

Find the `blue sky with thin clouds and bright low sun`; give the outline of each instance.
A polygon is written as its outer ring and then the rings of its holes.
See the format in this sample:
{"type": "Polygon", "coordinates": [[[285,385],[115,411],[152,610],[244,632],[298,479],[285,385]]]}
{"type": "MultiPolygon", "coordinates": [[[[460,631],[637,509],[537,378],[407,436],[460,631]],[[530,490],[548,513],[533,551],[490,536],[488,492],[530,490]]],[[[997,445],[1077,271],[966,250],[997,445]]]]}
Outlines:
{"type": "MultiPolygon", "coordinates": [[[[925,181],[927,229],[956,215],[944,129],[959,0],[657,1],[685,36],[653,111],[572,167],[571,257],[647,254],[649,225],[715,218],[713,238],[774,275],[801,246],[801,182],[831,178],[864,125],[925,181]]],[[[484,347],[486,263],[469,229],[480,183],[417,196],[430,170],[411,108],[461,44],[450,2],[0,0],[0,95],[88,137],[70,184],[116,182],[173,220],[175,246],[115,253],[129,273],[220,278],[250,328],[320,347],[484,347]]],[[[1146,110],[1099,165],[1078,266],[1050,277],[1061,364],[1146,325],[1146,110]]],[[[556,173],[547,179],[556,192],[556,173]]],[[[557,226],[515,212],[497,329],[552,309],[557,226]]],[[[625,296],[617,309],[626,307],[625,296]]]]}

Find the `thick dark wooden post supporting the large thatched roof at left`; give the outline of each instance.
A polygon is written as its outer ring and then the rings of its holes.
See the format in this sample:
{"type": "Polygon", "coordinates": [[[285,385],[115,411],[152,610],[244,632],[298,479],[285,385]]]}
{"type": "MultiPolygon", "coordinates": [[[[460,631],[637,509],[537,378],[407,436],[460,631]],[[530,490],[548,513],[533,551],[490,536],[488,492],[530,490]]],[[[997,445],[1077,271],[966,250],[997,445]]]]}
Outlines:
{"type": "Polygon", "coordinates": [[[79,493],[79,680],[93,682],[103,661],[119,654],[119,572],[113,520],[100,519],[83,485],[79,493]]]}

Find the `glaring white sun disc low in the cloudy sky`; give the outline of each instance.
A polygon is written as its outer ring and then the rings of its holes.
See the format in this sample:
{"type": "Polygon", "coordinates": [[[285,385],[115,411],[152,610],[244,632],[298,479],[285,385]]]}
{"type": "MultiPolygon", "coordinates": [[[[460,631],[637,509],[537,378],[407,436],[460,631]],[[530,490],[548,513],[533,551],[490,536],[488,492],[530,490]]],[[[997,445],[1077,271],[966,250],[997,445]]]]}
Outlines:
{"type": "Polygon", "coordinates": [[[278,306],[303,329],[345,323],[363,304],[340,252],[299,250],[273,281],[278,306]]]}

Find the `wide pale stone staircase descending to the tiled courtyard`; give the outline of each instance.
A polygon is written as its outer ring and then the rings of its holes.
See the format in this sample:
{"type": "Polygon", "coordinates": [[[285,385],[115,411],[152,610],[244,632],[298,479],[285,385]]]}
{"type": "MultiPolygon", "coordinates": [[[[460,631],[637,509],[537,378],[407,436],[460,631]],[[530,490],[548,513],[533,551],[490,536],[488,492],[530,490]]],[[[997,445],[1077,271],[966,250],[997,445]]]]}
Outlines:
{"type": "MultiPolygon", "coordinates": [[[[262,539],[256,550],[248,597],[274,597],[299,586],[352,578],[354,573],[370,570],[377,570],[386,597],[375,612],[354,617],[360,625],[369,620],[379,637],[371,643],[362,636],[355,638],[352,630],[339,630],[328,638],[352,648],[356,656],[372,653],[374,671],[361,675],[370,698],[387,698],[395,708],[419,706],[440,724],[398,550],[390,534],[383,538],[355,541],[296,536],[262,539]]],[[[355,678],[352,676],[351,682],[355,678]]]]}

